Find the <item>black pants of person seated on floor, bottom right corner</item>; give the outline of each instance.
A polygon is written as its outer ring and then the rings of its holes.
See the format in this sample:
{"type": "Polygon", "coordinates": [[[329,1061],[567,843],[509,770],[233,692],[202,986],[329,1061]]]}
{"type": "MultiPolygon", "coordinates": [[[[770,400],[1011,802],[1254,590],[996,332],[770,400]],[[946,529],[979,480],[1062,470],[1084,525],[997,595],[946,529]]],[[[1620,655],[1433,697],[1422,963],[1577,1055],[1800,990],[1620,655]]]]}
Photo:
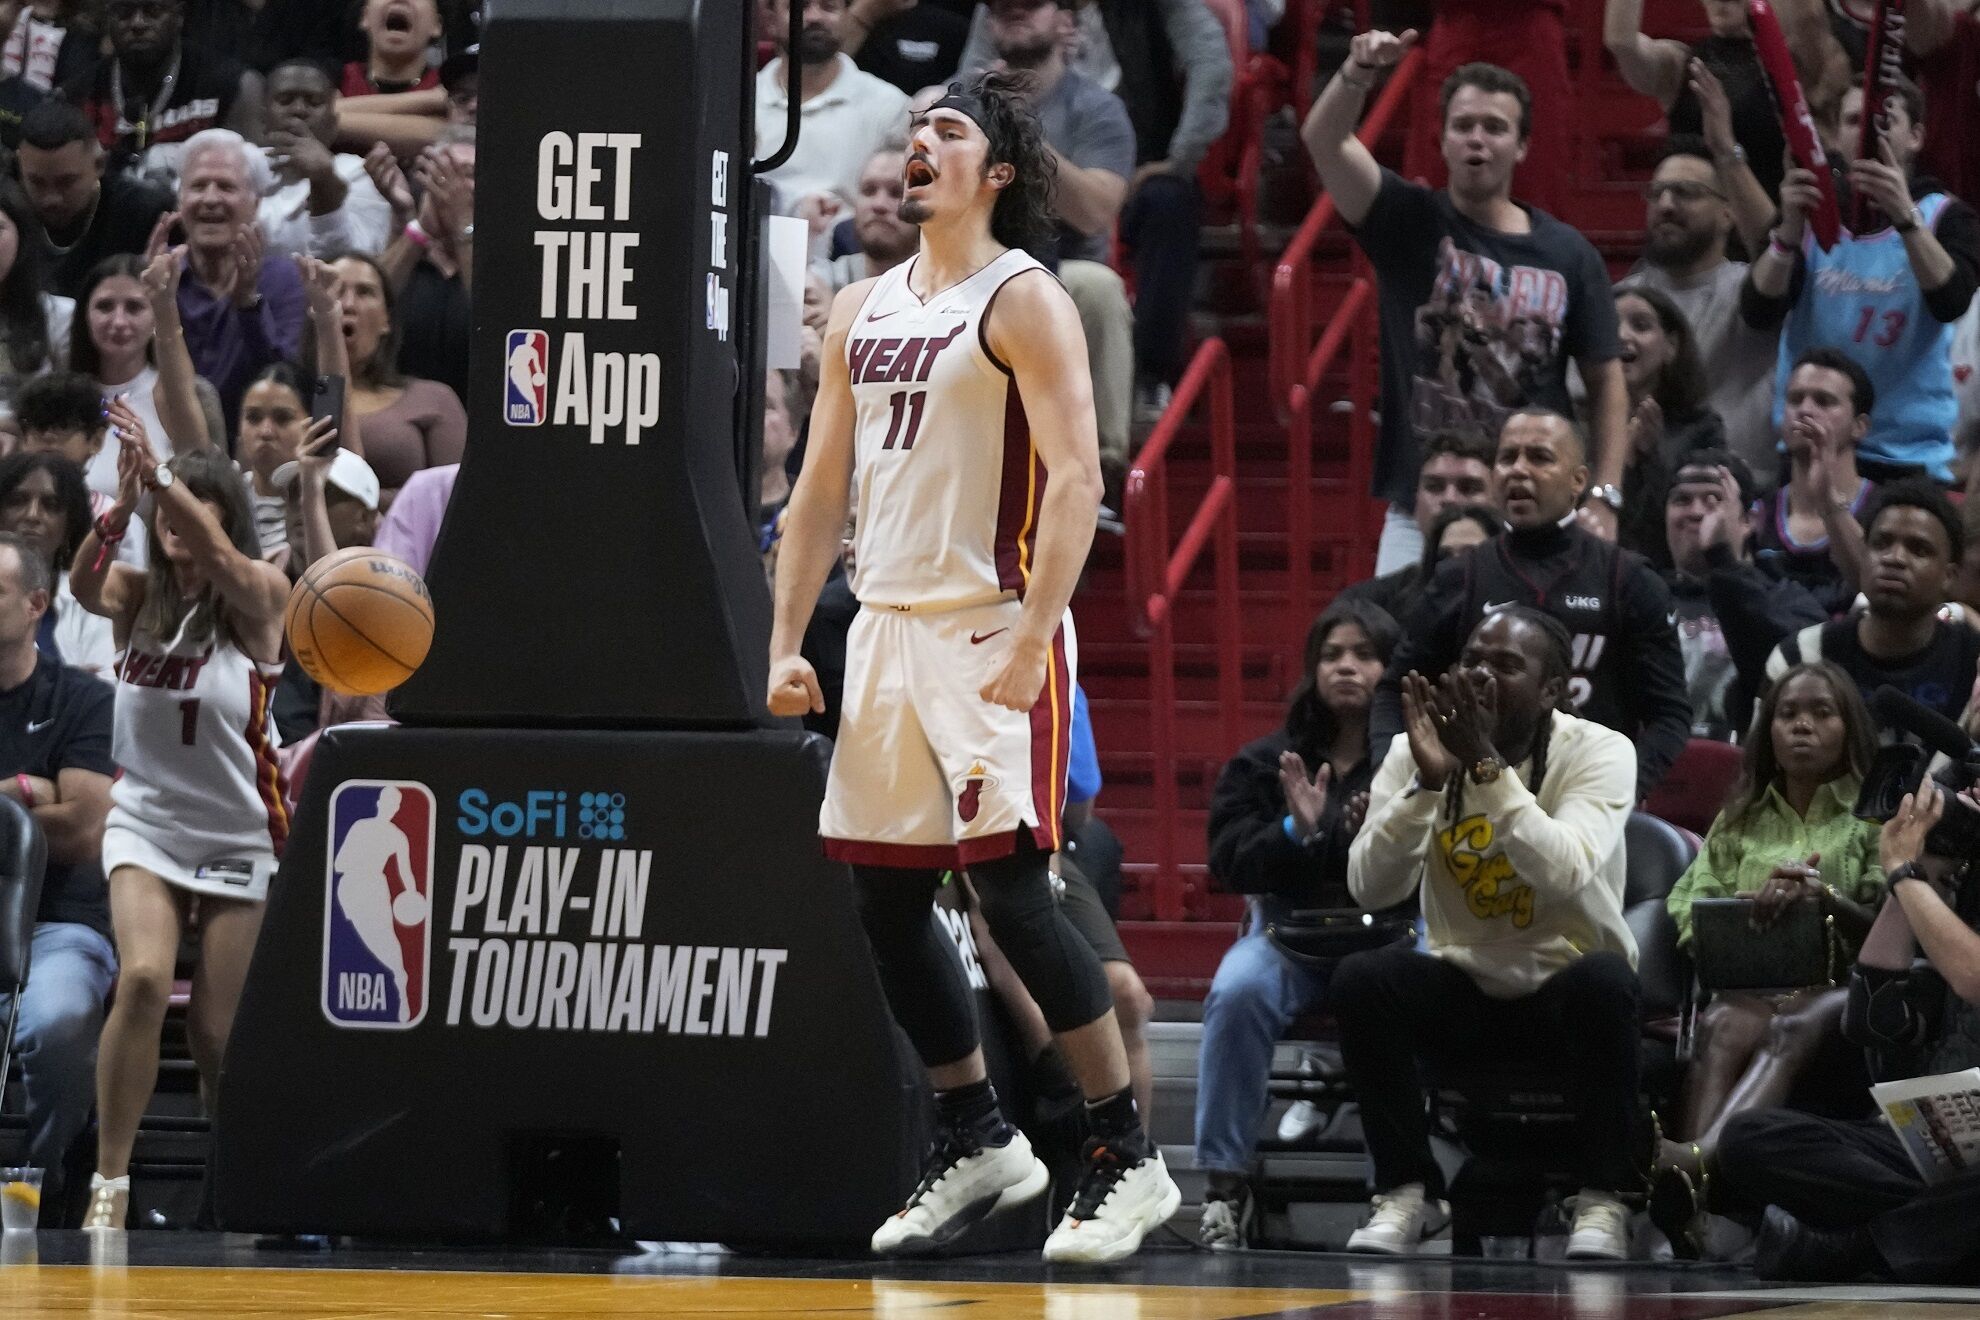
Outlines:
{"type": "Polygon", "coordinates": [[[1980,1280],[1980,1174],[1927,1187],[1883,1118],[1736,1114],[1719,1138],[1715,1195],[1818,1229],[1869,1229],[1899,1282],[1980,1280]]]}

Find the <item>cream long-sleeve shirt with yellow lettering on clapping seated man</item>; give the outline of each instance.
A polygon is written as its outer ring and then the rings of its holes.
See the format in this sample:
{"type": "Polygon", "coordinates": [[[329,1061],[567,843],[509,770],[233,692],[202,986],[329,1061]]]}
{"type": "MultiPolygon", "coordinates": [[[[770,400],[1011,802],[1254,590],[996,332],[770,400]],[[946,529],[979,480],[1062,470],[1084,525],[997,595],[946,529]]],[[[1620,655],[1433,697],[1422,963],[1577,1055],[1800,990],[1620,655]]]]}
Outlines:
{"type": "Polygon", "coordinates": [[[1501,999],[1533,993],[1596,950],[1635,966],[1622,918],[1635,746],[1556,712],[1538,798],[1531,774],[1529,760],[1491,784],[1467,778],[1453,819],[1455,790],[1420,788],[1410,740],[1396,738],[1348,851],[1358,904],[1394,906],[1422,883],[1432,956],[1501,999]]]}

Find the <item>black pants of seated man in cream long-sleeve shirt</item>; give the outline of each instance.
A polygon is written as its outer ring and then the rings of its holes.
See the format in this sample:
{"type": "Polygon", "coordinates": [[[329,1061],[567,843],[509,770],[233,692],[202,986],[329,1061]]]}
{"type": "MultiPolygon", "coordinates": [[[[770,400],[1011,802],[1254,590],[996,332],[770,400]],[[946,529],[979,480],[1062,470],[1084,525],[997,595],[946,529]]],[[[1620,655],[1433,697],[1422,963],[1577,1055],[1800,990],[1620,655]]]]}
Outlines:
{"type": "Polygon", "coordinates": [[[1641,1181],[1630,1158],[1637,982],[1622,956],[1588,954],[1531,995],[1493,999],[1441,958],[1394,946],[1342,960],[1329,997],[1378,1191],[1424,1183],[1443,1193],[1420,1063],[1501,1073],[1531,1061],[1534,1075],[1560,1077],[1576,1112],[1582,1185],[1624,1191],[1641,1181]]]}

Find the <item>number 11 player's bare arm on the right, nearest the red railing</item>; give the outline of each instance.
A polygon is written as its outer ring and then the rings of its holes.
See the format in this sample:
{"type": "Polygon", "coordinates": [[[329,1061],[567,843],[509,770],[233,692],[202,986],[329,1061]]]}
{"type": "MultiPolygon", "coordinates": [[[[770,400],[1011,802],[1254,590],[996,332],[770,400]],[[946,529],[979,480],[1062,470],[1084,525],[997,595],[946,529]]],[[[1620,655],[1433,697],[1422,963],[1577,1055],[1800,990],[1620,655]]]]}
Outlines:
{"type": "Polygon", "coordinates": [[[1038,509],[1038,554],[1024,612],[1010,633],[1010,651],[982,697],[1012,710],[1030,710],[1045,687],[1051,637],[1079,586],[1099,517],[1093,376],[1087,372],[1079,311],[1059,281],[1045,273],[1028,271],[1004,285],[990,309],[986,334],[990,350],[1018,380],[1032,443],[1045,465],[1045,497],[1038,509]]]}

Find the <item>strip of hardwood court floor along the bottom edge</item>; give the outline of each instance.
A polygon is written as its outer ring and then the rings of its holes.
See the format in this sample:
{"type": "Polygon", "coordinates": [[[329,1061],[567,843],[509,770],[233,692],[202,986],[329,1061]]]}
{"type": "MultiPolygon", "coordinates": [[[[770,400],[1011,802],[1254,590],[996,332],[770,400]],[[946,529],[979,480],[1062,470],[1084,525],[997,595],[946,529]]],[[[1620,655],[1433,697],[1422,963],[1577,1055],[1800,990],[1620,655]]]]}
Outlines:
{"type": "Polygon", "coordinates": [[[1705,1320],[1762,1312],[1770,1320],[1980,1318],[1980,1292],[1760,1290],[1738,1271],[1368,1265],[1285,1253],[1150,1251],[1111,1271],[1045,1271],[1030,1257],[881,1267],[719,1255],[299,1255],[192,1233],[135,1233],[109,1245],[44,1233],[0,1243],[6,1320],[1705,1320]]]}

